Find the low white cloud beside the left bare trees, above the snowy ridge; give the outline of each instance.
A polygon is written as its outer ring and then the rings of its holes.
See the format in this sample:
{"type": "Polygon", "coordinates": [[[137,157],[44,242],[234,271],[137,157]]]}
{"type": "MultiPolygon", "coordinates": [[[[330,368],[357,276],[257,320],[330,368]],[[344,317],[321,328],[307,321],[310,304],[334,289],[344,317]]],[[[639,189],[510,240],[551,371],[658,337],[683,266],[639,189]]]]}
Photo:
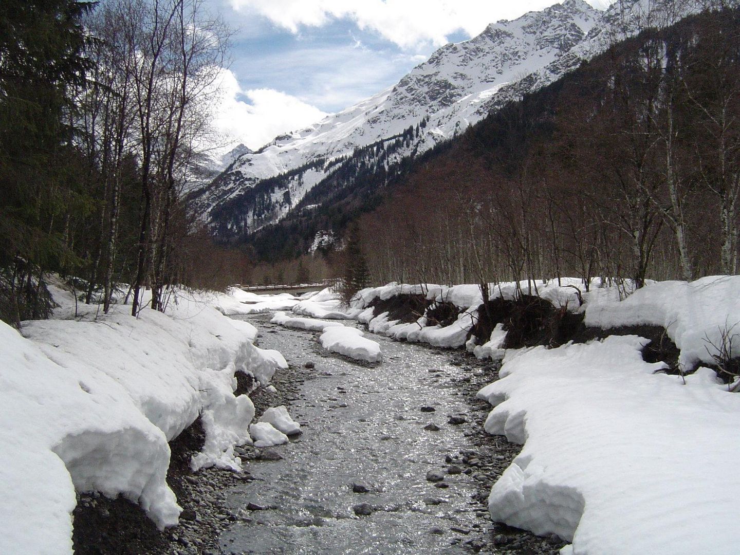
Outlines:
{"type": "Polygon", "coordinates": [[[272,89],[241,90],[236,76],[223,70],[221,104],[214,108],[213,126],[223,144],[258,149],[283,132],[302,129],[326,116],[295,96],[272,89]],[[245,100],[246,99],[246,100],[245,100]]]}

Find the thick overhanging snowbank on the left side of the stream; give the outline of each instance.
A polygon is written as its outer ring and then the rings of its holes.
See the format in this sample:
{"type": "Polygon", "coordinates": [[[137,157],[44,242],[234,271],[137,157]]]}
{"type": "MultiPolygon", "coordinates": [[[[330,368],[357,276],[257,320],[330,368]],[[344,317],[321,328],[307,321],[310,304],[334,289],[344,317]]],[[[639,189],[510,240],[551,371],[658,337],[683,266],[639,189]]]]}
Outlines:
{"type": "Polygon", "coordinates": [[[286,367],[202,295],[180,291],[167,314],[134,318],[51,289],[53,319],[24,322],[22,335],[0,323],[0,553],[71,553],[75,489],[123,494],[160,528],[176,524],[167,442],[200,414],[192,467],[240,468],[233,447],[250,441],[255,409],[234,396],[235,372],[267,383],[286,367]]]}

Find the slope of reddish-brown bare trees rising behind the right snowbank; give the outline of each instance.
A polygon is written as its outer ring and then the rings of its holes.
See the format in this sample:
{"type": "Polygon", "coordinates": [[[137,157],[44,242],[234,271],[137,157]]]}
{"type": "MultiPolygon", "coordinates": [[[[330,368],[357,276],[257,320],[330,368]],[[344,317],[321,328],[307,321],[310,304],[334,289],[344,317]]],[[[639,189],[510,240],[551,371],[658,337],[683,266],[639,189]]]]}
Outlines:
{"type": "Polygon", "coordinates": [[[736,273],[739,61],[705,13],[490,115],[363,217],[373,280],[736,273]]]}

